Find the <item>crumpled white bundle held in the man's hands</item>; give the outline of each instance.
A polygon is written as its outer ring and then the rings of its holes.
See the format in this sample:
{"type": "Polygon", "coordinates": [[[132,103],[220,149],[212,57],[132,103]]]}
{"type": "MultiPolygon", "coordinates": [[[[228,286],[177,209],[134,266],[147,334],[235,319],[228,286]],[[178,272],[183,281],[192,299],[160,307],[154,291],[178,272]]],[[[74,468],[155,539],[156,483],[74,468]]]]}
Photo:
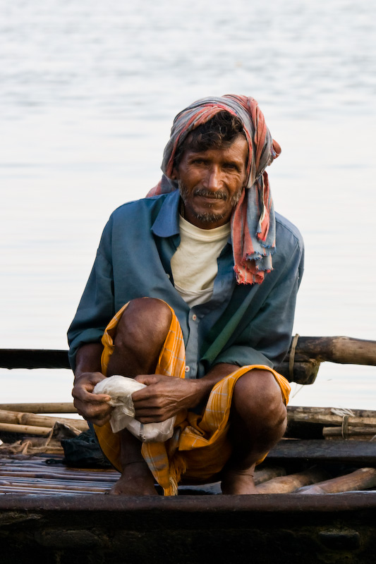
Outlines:
{"type": "Polygon", "coordinates": [[[109,376],[100,381],[94,388],[94,393],[105,393],[111,396],[109,405],[114,406],[110,424],[114,433],[121,429],[128,429],[143,443],[163,443],[174,433],[175,417],[161,423],[140,423],[135,419],[135,407],[132,394],[145,388],[145,384],[126,376],[109,376]]]}

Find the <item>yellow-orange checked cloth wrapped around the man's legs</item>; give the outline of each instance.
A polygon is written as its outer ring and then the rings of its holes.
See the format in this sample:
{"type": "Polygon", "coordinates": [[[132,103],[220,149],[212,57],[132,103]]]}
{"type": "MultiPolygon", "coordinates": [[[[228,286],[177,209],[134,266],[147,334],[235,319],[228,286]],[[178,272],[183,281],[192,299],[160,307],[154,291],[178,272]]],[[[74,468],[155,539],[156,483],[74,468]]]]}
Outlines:
{"type": "MultiPolygon", "coordinates": [[[[109,357],[114,352],[113,338],[116,326],[127,306],[128,304],[120,309],[104,331],[102,338],[104,345],[103,374],[107,373],[109,357]]],[[[169,333],[159,354],[155,374],[184,378],[186,353],[183,335],[173,309],[171,312],[172,321],[169,333]]],[[[220,472],[226,461],[229,460],[231,444],[227,438],[227,431],[229,430],[232,393],[238,378],[253,368],[269,370],[274,374],[281,388],[284,403],[287,404],[290,386],[284,376],[262,365],[244,366],[226,376],[213,387],[202,415],[187,410],[179,412],[171,439],[165,443],[142,443],[142,456],[154,479],[162,486],[165,496],[176,495],[178,482],[181,479],[190,483],[210,482],[210,479],[220,472]]],[[[121,472],[119,433],[114,434],[109,423],[103,427],[95,425],[95,433],[104,454],[121,472]]],[[[262,462],[265,456],[258,463],[262,462]]]]}

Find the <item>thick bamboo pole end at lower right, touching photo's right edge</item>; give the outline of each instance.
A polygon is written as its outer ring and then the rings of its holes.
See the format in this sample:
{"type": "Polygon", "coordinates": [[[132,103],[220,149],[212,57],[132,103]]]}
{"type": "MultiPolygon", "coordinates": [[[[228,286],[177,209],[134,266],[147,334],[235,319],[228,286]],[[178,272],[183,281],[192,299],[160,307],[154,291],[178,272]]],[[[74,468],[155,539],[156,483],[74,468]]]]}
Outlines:
{"type": "Polygon", "coordinates": [[[305,486],[297,494],[339,494],[341,491],[358,491],[376,487],[375,468],[360,468],[351,474],[305,486]]]}

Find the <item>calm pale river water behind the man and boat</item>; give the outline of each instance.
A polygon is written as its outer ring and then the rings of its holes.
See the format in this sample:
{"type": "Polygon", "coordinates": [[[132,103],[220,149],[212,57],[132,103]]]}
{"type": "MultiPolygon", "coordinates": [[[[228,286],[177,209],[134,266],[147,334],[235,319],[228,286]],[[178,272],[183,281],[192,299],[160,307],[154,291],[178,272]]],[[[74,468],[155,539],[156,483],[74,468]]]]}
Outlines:
{"type": "MultiPolygon", "coordinates": [[[[174,115],[255,97],[301,229],[294,331],[376,339],[376,4],[3,0],[1,348],[66,348],[111,211],[159,180],[174,115]]],[[[68,371],[0,372],[1,401],[66,401],[68,371]]],[[[376,368],[323,364],[296,405],[376,409],[376,368]]]]}

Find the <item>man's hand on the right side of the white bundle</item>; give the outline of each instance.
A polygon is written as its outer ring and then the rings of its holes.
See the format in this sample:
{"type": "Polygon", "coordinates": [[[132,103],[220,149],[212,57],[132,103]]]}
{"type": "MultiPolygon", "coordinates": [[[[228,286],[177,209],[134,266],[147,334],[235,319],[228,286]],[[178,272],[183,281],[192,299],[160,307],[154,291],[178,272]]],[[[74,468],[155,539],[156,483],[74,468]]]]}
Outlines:
{"type": "Polygon", "coordinates": [[[181,410],[195,407],[207,388],[201,380],[161,374],[140,374],[135,380],[147,386],[132,394],[135,419],[140,423],[159,423],[181,410]]]}

